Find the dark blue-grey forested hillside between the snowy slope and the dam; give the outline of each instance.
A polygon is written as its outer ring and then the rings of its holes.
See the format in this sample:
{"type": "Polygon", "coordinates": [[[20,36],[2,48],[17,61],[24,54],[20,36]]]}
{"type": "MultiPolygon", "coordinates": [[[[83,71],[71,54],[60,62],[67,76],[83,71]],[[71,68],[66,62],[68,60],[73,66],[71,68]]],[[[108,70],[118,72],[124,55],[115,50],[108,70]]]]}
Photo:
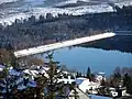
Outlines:
{"type": "Polygon", "coordinates": [[[132,31],[132,7],[123,7],[118,12],[56,18],[47,13],[46,18],[15,20],[12,25],[0,25],[0,47],[22,50],[106,31],[132,31]]]}

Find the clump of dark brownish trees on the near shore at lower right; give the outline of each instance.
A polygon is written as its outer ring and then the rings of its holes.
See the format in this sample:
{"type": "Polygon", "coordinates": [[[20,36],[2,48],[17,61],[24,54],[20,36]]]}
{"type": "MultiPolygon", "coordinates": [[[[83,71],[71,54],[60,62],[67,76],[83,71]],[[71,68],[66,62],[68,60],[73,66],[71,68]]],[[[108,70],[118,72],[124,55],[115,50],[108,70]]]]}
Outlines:
{"type": "Polygon", "coordinates": [[[117,90],[120,88],[125,88],[127,94],[132,95],[132,67],[117,67],[111,75],[111,77],[107,80],[102,80],[102,94],[109,94],[109,89],[107,88],[116,88],[117,90]],[[106,90],[106,91],[105,91],[106,90]]]}

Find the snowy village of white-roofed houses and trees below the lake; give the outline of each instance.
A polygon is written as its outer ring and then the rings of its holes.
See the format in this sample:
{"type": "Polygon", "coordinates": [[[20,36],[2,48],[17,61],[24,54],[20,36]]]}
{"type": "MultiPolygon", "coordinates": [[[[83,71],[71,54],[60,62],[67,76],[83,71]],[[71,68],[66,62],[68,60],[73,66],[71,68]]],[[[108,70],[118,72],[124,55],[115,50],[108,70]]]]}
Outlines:
{"type": "MultiPolygon", "coordinates": [[[[92,74],[90,67],[87,74],[72,72],[66,67],[59,68],[52,54],[47,58],[48,62],[43,65],[33,61],[30,67],[25,67],[24,63],[19,63],[20,66],[15,62],[11,62],[12,66],[1,63],[1,99],[23,99],[25,95],[30,97],[26,99],[131,99],[122,79],[112,87],[102,72],[92,74]]],[[[2,62],[4,59],[1,57],[2,62]]]]}

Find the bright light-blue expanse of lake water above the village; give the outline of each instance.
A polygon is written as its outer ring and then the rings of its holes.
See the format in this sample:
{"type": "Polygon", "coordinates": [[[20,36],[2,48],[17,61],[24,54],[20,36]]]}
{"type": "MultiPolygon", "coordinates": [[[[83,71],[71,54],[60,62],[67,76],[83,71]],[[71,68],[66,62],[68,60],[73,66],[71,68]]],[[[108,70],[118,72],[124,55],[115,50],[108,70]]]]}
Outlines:
{"type": "Polygon", "coordinates": [[[61,48],[54,52],[54,59],[70,69],[79,70],[84,74],[87,72],[88,66],[94,73],[105,72],[107,76],[111,75],[117,66],[132,67],[131,53],[101,48],[61,48]]]}

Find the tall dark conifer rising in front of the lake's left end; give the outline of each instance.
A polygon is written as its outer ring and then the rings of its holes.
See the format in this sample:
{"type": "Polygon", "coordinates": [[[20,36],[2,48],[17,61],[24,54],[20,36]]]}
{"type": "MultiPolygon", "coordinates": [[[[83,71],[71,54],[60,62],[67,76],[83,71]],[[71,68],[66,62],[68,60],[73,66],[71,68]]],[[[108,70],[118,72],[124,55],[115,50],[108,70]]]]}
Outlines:
{"type": "Polygon", "coordinates": [[[53,53],[47,53],[48,59],[48,70],[45,75],[40,75],[36,78],[36,99],[56,99],[56,97],[64,94],[63,87],[64,82],[58,82],[58,77],[63,75],[59,66],[56,62],[53,61],[53,53]],[[44,95],[42,95],[44,94],[44,95]]]}

